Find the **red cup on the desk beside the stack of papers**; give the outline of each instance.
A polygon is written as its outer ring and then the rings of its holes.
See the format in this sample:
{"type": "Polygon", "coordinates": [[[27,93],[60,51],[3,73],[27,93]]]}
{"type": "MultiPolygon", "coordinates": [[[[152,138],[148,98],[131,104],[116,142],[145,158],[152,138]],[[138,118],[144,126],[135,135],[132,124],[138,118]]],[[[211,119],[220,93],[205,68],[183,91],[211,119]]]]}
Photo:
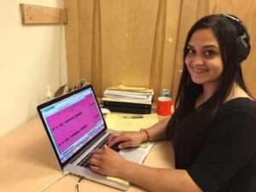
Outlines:
{"type": "Polygon", "coordinates": [[[172,114],[172,98],[159,96],[156,103],[156,112],[160,116],[169,116],[172,114]]]}

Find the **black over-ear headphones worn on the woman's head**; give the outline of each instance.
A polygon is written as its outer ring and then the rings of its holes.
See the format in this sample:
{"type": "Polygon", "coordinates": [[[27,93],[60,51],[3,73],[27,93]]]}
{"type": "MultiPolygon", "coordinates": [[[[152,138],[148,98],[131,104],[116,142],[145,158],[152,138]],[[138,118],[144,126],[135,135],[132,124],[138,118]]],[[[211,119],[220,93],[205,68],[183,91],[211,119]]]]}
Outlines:
{"type": "Polygon", "coordinates": [[[251,49],[250,37],[247,32],[247,27],[244,26],[241,20],[239,20],[234,15],[224,14],[224,16],[229,20],[231,20],[231,22],[236,26],[238,30],[238,37],[236,38],[236,46],[237,46],[236,56],[240,62],[244,61],[247,58],[247,55],[249,55],[249,52],[251,49]]]}

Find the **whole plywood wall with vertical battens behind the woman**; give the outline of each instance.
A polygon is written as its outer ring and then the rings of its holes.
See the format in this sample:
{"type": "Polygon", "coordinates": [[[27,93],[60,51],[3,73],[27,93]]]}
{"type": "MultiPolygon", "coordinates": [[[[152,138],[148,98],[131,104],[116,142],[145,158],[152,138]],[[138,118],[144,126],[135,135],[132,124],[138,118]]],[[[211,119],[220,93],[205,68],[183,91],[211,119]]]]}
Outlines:
{"type": "MultiPolygon", "coordinates": [[[[247,0],[66,0],[68,83],[79,79],[96,94],[118,84],[148,86],[156,95],[172,90],[183,68],[184,39],[196,20],[212,13],[244,20],[255,42],[256,3],[247,0]]],[[[254,50],[254,45],[252,53],[254,50]]],[[[256,54],[244,63],[247,84],[256,96],[256,54]]]]}

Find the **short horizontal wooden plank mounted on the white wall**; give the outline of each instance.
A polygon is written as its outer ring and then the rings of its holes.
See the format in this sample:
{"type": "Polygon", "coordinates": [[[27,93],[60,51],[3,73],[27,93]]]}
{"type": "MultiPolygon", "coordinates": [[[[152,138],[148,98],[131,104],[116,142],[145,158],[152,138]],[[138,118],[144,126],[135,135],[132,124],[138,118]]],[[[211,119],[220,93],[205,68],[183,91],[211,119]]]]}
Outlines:
{"type": "Polygon", "coordinates": [[[66,24],[67,9],[20,3],[22,24],[66,24]]]}

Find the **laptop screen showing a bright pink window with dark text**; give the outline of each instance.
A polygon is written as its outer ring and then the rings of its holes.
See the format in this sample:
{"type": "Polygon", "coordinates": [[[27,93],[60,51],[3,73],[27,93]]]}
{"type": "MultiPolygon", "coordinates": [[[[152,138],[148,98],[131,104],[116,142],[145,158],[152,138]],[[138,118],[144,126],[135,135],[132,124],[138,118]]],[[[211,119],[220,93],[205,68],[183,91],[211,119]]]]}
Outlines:
{"type": "Polygon", "coordinates": [[[49,103],[38,110],[61,163],[106,128],[90,86],[49,103]]]}

